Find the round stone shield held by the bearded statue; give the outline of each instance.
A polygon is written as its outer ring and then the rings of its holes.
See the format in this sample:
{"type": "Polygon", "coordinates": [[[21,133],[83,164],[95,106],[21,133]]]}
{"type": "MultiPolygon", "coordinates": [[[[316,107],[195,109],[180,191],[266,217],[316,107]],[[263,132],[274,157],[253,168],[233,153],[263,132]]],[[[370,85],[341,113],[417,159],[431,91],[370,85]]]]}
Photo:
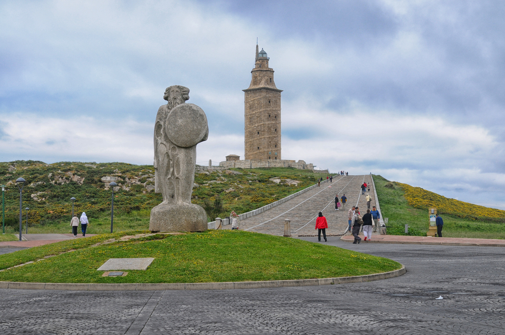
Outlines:
{"type": "Polygon", "coordinates": [[[175,106],[168,115],[165,130],[170,141],[183,148],[207,140],[209,134],[204,110],[192,103],[175,106]]]}

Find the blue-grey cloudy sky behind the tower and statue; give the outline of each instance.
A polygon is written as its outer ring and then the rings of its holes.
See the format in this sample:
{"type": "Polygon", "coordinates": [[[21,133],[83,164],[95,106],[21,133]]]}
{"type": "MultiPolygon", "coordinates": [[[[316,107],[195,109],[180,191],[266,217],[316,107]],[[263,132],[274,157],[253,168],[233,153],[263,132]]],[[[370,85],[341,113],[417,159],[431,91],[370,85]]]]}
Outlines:
{"type": "Polygon", "coordinates": [[[244,154],[256,39],[282,158],[505,209],[505,2],[2,1],[0,161],[153,163],[170,85],[244,154]]]}

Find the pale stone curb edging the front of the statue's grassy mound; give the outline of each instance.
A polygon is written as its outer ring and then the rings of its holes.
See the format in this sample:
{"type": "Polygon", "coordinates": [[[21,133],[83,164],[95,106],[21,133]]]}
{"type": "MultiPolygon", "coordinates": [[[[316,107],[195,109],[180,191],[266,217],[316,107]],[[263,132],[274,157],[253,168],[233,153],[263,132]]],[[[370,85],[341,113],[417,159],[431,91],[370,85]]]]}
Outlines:
{"type": "Polygon", "coordinates": [[[66,283],[17,283],[0,282],[0,289],[14,290],[68,290],[68,291],[165,291],[165,290],[237,290],[280,287],[319,286],[332,284],[363,283],[393,278],[406,273],[405,265],[394,271],[355,275],[350,277],[300,279],[290,281],[180,283],[180,284],[66,284],[66,283]]]}

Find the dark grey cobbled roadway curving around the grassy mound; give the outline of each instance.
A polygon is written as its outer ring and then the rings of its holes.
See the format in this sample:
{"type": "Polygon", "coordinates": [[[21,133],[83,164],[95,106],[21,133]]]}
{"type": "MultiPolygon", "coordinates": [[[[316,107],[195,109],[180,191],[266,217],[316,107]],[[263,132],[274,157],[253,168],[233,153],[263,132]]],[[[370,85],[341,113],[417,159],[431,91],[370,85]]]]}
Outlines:
{"type": "Polygon", "coordinates": [[[368,283],[256,290],[0,290],[0,334],[502,334],[505,329],[505,248],[354,245],[337,237],[327,244],[394,259],[408,272],[368,283]],[[440,295],[444,299],[435,300],[440,295]]]}

